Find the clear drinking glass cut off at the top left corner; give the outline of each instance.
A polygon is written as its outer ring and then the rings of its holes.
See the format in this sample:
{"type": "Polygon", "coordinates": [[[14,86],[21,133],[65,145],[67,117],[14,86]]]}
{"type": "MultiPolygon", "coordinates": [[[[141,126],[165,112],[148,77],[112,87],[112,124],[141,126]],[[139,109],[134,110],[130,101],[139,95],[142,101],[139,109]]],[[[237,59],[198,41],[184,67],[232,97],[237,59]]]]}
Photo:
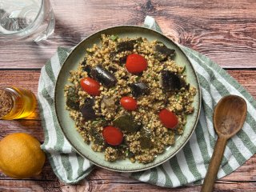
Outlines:
{"type": "Polygon", "coordinates": [[[54,31],[49,0],[0,0],[0,36],[38,42],[54,31]]]}

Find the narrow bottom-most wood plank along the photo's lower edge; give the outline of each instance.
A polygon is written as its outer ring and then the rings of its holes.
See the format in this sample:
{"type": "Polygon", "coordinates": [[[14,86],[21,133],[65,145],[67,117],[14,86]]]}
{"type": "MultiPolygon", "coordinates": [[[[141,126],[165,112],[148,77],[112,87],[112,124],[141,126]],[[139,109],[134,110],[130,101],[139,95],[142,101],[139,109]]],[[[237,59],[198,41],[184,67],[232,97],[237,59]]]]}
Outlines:
{"type": "MultiPolygon", "coordinates": [[[[214,186],[214,192],[222,191],[255,191],[255,182],[217,182],[214,186]]],[[[174,189],[162,188],[159,186],[152,186],[146,183],[137,182],[106,182],[101,181],[83,181],[83,183],[70,186],[58,182],[42,182],[42,181],[30,181],[30,180],[18,180],[16,182],[5,180],[0,180],[0,190],[1,191],[65,191],[65,192],[98,192],[98,191],[129,191],[129,192],[139,192],[139,191],[180,191],[180,192],[190,192],[199,191],[201,186],[182,186],[174,189]]]]}

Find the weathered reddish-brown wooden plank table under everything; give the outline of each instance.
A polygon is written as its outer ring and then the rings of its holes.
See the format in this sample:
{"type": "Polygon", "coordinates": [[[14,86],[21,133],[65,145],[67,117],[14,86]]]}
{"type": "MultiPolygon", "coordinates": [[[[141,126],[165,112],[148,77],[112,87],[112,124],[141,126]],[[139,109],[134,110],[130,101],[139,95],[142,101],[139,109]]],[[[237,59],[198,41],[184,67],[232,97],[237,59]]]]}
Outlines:
{"type": "MultiPolygon", "coordinates": [[[[52,1],[54,34],[46,42],[8,42],[0,38],[0,86],[22,86],[37,94],[41,67],[58,46],[71,47],[97,30],[117,25],[141,26],[154,16],[174,42],[206,54],[256,98],[255,0],[52,1]]],[[[256,114],[255,114],[256,115],[256,114]]],[[[41,120],[0,121],[1,138],[26,132],[43,142],[41,120]]],[[[255,191],[256,155],[234,173],[216,181],[214,191],[255,191]]],[[[76,186],[59,182],[49,162],[36,178],[13,179],[0,174],[0,191],[198,191],[201,186],[166,189],[96,168],[76,186]]]]}

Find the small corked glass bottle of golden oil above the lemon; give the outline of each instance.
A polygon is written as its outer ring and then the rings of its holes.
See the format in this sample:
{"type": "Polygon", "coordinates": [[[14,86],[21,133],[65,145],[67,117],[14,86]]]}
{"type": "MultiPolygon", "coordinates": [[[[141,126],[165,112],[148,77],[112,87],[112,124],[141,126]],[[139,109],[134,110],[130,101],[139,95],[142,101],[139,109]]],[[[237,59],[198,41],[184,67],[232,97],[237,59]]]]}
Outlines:
{"type": "Polygon", "coordinates": [[[30,90],[0,87],[0,119],[26,118],[34,112],[36,98],[30,90]]]}

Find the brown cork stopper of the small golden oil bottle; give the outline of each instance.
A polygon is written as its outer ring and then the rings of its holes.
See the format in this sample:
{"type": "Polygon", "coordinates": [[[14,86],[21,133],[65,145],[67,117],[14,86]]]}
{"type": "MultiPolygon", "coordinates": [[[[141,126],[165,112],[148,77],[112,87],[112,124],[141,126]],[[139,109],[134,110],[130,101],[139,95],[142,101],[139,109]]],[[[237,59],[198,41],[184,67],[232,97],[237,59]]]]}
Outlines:
{"type": "Polygon", "coordinates": [[[9,114],[12,107],[13,102],[10,94],[4,89],[0,89],[0,119],[9,114]]]}

